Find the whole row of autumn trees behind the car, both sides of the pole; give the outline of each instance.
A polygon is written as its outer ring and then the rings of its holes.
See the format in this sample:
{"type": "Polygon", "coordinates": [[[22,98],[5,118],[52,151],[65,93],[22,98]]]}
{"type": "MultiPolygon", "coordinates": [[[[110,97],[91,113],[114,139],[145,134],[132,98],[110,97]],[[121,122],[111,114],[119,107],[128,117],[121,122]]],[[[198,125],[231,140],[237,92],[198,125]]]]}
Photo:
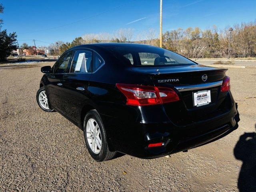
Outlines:
{"type": "MultiPolygon", "coordinates": [[[[230,41],[231,57],[256,57],[256,20],[232,26],[231,38],[229,28],[230,26],[218,29],[212,26],[202,30],[198,27],[189,27],[185,30],[178,28],[166,31],[163,34],[163,48],[189,58],[227,58],[230,41]]],[[[130,42],[159,46],[156,30],[149,29],[135,37],[134,30],[128,28],[117,30],[114,34],[85,34],[72,42],[62,42],[59,44],[59,51],[63,53],[76,45],[100,42],[130,42]],[[132,41],[135,38],[138,40],[132,41]]]]}

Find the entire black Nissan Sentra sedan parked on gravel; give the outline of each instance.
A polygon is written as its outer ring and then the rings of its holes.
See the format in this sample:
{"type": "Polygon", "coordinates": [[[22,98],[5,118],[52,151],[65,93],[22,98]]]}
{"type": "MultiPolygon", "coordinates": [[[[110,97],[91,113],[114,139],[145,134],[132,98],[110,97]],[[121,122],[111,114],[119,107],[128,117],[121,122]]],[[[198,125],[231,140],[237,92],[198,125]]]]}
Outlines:
{"type": "Polygon", "coordinates": [[[38,105],[82,128],[96,161],[116,152],[157,158],[185,151],[236,124],[226,69],[163,48],[80,45],[41,71],[38,105]]]}

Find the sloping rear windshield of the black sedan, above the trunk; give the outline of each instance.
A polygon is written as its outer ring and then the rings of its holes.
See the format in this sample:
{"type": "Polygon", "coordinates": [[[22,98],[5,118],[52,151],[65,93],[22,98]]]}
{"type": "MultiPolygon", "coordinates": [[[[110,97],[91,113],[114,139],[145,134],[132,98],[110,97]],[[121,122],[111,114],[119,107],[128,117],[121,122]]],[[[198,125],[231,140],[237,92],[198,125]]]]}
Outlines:
{"type": "Polygon", "coordinates": [[[179,54],[153,46],[116,46],[110,49],[131,66],[196,65],[179,54]]]}

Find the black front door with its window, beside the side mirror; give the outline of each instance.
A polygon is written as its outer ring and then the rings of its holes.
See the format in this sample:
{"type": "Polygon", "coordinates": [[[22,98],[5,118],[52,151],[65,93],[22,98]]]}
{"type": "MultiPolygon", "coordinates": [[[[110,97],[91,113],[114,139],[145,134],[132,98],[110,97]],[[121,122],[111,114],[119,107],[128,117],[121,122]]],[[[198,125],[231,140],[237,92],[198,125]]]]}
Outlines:
{"type": "Polygon", "coordinates": [[[48,75],[47,94],[51,106],[64,113],[66,94],[62,84],[62,79],[70,70],[70,62],[74,51],[63,54],[55,63],[53,72],[48,75]]]}

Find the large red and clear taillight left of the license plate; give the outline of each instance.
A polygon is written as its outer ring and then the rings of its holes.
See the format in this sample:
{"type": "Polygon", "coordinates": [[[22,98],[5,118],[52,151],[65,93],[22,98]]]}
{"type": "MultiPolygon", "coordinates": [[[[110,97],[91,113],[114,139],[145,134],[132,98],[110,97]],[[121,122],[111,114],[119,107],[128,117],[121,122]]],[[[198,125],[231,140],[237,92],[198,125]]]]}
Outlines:
{"type": "Polygon", "coordinates": [[[170,88],[119,83],[116,87],[126,96],[127,105],[155,105],[180,100],[176,92],[170,88]]]}

